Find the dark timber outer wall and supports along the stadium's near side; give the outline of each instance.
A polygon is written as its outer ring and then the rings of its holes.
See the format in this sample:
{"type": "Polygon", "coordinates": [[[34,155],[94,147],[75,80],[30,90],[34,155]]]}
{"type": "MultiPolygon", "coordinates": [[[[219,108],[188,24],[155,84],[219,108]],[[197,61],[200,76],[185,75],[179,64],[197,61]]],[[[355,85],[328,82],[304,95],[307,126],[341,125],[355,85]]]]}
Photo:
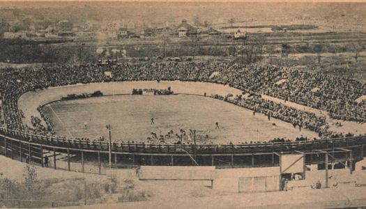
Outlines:
{"type": "MultiPolygon", "coordinates": [[[[216,165],[220,167],[220,162],[222,162],[221,165],[224,164],[226,166],[227,162],[229,162],[228,164],[231,167],[234,167],[234,165],[236,167],[247,167],[248,164],[249,167],[267,167],[278,165],[279,162],[276,156],[299,152],[307,155],[305,164],[321,164],[323,160],[321,157],[319,158],[319,154],[315,153],[316,151],[326,151],[333,153],[334,156],[340,153],[340,155],[337,155],[338,161],[345,162],[346,160],[350,160],[351,157],[351,160],[354,162],[364,157],[365,144],[366,137],[360,136],[320,139],[316,141],[287,141],[261,144],[201,144],[197,146],[184,144],[112,143],[111,151],[112,155],[115,156],[116,163],[117,155],[127,156],[123,159],[132,160],[132,162],[119,162],[119,164],[146,164],[146,162],[141,162],[138,159],[144,160],[150,159],[149,157],[151,157],[151,165],[161,165],[161,162],[158,162],[156,159],[163,161],[164,165],[192,165],[195,159],[199,165],[216,165]],[[348,150],[347,152],[351,152],[351,155],[344,155],[344,151],[342,152],[342,150],[348,150]],[[153,157],[156,157],[155,161],[153,157]],[[174,159],[174,157],[179,158],[179,160],[174,159]],[[252,160],[250,160],[250,157],[252,160]],[[245,160],[243,160],[244,158],[245,160]],[[246,161],[249,161],[248,164],[246,161]]],[[[44,150],[47,150],[51,157],[52,155],[56,155],[55,150],[59,153],[67,153],[69,156],[70,153],[74,153],[75,155],[80,155],[80,153],[81,155],[83,153],[84,155],[85,153],[95,154],[95,156],[98,155],[98,164],[100,164],[100,155],[107,155],[109,153],[109,143],[107,141],[82,141],[61,137],[45,137],[6,130],[3,127],[0,128],[0,147],[1,150],[6,150],[3,154],[8,157],[9,152],[12,158],[13,155],[22,157],[30,155],[32,162],[38,162],[42,165],[44,150]]],[[[56,169],[56,157],[54,160],[54,167],[56,169]]],[[[70,170],[70,159],[68,160],[68,167],[70,170]]]]}

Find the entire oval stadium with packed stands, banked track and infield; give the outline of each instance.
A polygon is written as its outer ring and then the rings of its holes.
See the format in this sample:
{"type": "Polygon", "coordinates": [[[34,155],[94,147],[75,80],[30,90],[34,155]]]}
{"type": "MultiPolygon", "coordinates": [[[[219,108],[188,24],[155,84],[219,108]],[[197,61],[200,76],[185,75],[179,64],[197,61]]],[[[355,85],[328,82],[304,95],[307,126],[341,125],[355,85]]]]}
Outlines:
{"type": "MultiPolygon", "coordinates": [[[[314,166],[352,173],[364,157],[365,102],[357,99],[366,85],[356,80],[190,62],[43,67],[0,76],[1,154],[42,167],[105,174],[108,167],[183,166],[188,176],[192,166],[280,167],[271,174],[276,190],[282,178],[305,179],[314,166]],[[298,162],[300,169],[291,171],[298,162]]],[[[201,178],[213,180],[206,174],[201,178]]]]}

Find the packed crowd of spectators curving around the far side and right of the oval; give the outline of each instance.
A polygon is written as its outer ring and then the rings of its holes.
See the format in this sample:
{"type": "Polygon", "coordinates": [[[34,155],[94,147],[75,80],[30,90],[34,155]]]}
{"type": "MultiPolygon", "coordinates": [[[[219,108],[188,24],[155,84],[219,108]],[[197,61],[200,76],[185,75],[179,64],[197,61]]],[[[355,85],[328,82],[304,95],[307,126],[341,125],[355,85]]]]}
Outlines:
{"type": "MultiPolygon", "coordinates": [[[[50,86],[88,84],[93,82],[125,81],[191,81],[229,85],[243,91],[243,95],[215,98],[266,114],[291,123],[294,127],[319,132],[319,137],[334,134],[324,127],[325,116],[289,107],[261,98],[261,94],[296,102],[327,111],[331,118],[343,121],[366,122],[366,102],[355,100],[366,93],[366,84],[353,79],[332,77],[321,73],[301,72],[277,66],[254,66],[232,63],[123,63],[114,67],[97,65],[48,66],[38,70],[9,69],[0,73],[0,93],[3,96],[3,123],[11,130],[36,134],[54,134],[48,118],[46,126],[37,117],[31,118],[33,127],[22,123],[17,100],[26,91],[50,86]],[[112,77],[105,75],[111,72],[112,77]],[[219,72],[211,77],[213,72],[219,72]],[[286,80],[276,84],[280,80],[286,80]],[[316,89],[316,91],[314,91],[316,89]],[[244,96],[245,95],[245,96],[244,96]]],[[[137,89],[136,89],[137,91],[137,89]]],[[[164,90],[160,94],[166,93],[164,90]]],[[[38,109],[40,114],[43,112],[38,109]]],[[[178,134],[179,135],[179,134],[178,134]]]]}

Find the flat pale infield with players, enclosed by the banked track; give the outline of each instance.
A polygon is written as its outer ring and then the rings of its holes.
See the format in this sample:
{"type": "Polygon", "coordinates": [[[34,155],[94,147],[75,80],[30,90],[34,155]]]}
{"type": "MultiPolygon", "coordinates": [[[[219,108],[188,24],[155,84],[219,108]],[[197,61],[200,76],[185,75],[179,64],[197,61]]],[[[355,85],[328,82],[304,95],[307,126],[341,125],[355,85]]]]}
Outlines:
{"type": "MultiPolygon", "coordinates": [[[[43,107],[56,135],[98,139],[112,125],[112,140],[147,141],[151,132],[196,130],[197,143],[268,141],[274,137],[317,137],[310,130],[299,132],[289,123],[213,98],[197,95],[115,95],[56,101],[43,107]],[[151,124],[151,118],[155,124],[151,124]],[[87,123],[86,127],[84,123],[87,123]],[[218,122],[220,128],[216,128],[218,122]],[[272,123],[275,123],[273,129],[272,123]],[[258,130],[258,132],[257,132],[258,130]],[[208,134],[208,139],[206,139],[208,134]]],[[[168,141],[177,141],[171,137],[168,141]]]]}

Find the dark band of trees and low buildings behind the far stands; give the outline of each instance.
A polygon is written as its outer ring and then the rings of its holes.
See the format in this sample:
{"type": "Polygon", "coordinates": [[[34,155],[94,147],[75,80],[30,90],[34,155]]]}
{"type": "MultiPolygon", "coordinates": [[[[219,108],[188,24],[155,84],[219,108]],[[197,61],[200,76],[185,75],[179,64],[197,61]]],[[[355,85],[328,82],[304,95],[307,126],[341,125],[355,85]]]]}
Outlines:
{"type": "Polygon", "coordinates": [[[365,42],[346,43],[305,43],[292,45],[271,45],[266,38],[249,36],[247,40],[220,45],[220,39],[211,39],[206,45],[192,41],[192,45],[171,44],[169,38],[162,38],[155,45],[126,45],[120,47],[103,47],[97,52],[97,47],[85,46],[77,42],[40,42],[24,39],[0,39],[0,62],[3,63],[57,63],[57,64],[91,64],[98,59],[114,57],[175,57],[175,56],[229,56],[240,62],[251,64],[261,61],[264,54],[271,58],[274,54],[287,57],[289,54],[317,54],[320,64],[324,53],[354,53],[357,62],[360,52],[365,51],[365,42]],[[114,50],[117,49],[117,50],[114,50]],[[125,53],[122,53],[124,51],[125,53]]]}

